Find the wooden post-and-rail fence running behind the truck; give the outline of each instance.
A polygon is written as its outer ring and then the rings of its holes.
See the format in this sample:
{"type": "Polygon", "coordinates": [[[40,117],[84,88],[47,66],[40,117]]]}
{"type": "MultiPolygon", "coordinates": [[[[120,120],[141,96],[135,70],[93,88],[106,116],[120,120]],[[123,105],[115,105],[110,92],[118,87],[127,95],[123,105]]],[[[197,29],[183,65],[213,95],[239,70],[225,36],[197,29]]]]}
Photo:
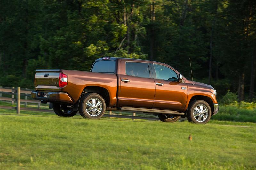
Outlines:
{"type": "MultiPolygon", "coordinates": [[[[2,87],[0,86],[0,101],[11,101],[12,105],[14,105],[14,102],[16,101],[16,107],[13,106],[1,106],[1,108],[7,108],[7,109],[16,109],[17,113],[20,114],[21,110],[31,110],[31,111],[44,111],[44,112],[51,112],[54,113],[53,110],[50,109],[40,109],[41,102],[39,100],[30,100],[27,97],[31,97],[31,91],[30,89],[21,89],[20,87],[2,87]],[[12,97],[2,97],[3,93],[11,94],[12,97]],[[16,94],[16,98],[14,97],[16,94]],[[20,94],[23,94],[25,96],[25,99],[20,99],[20,94]],[[20,102],[24,103],[24,107],[20,107],[20,102]],[[38,104],[38,109],[35,108],[26,108],[27,103],[36,103],[38,104]]],[[[155,117],[144,117],[144,116],[136,116],[135,112],[132,112],[132,115],[113,115],[112,111],[109,111],[109,114],[105,114],[106,117],[119,117],[119,118],[130,118],[130,119],[147,119],[147,120],[159,120],[155,117]]]]}

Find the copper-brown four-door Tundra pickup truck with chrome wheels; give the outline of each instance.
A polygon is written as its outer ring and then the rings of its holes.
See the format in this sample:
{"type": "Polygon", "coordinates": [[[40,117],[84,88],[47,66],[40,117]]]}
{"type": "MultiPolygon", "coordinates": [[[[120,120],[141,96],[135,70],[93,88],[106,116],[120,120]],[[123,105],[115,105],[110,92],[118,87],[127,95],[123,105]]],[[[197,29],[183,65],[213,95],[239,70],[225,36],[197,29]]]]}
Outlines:
{"type": "Polygon", "coordinates": [[[211,85],[193,82],[171,66],[147,60],[103,57],[90,70],[36,70],[32,98],[49,102],[61,117],[79,111],[98,119],[106,110],[157,115],[163,122],[180,117],[207,123],[219,106],[211,85]]]}

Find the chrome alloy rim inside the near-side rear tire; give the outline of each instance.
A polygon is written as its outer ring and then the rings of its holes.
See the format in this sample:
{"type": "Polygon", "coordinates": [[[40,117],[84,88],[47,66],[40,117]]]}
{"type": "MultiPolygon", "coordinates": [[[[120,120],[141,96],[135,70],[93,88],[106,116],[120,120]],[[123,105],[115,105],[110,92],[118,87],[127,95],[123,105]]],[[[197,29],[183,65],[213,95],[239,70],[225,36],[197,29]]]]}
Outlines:
{"type": "Polygon", "coordinates": [[[86,102],[86,112],[90,116],[98,116],[102,110],[102,103],[97,98],[91,98],[86,102]]]}

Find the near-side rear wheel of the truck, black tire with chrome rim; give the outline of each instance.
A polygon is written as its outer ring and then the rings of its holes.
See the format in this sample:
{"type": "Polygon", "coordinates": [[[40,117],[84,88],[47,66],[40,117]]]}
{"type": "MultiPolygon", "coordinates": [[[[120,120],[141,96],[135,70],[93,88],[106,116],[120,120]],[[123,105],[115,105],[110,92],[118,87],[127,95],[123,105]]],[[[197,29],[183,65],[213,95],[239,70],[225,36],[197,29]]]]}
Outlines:
{"type": "Polygon", "coordinates": [[[99,119],[104,115],[105,110],[105,100],[99,94],[87,93],[81,98],[79,113],[83,118],[99,119]],[[98,103],[100,104],[97,105],[98,103]]]}

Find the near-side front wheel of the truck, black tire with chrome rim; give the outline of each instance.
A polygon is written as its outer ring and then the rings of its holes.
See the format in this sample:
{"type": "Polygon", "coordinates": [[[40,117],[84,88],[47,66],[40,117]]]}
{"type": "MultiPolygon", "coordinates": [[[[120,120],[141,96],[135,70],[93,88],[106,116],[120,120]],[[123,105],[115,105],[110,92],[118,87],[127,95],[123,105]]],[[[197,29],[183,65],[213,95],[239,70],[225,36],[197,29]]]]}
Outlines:
{"type": "Polygon", "coordinates": [[[212,116],[212,110],[209,104],[204,100],[193,100],[188,105],[187,119],[190,123],[206,124],[210,121],[212,116]],[[201,108],[201,106],[203,106],[201,108]],[[197,107],[200,112],[195,111],[197,107]],[[204,110],[207,110],[207,114],[204,113],[204,110]],[[194,116],[195,111],[195,116],[194,116]],[[200,120],[201,119],[201,120],[200,120]],[[202,120],[203,119],[203,120],[202,120]]]}

